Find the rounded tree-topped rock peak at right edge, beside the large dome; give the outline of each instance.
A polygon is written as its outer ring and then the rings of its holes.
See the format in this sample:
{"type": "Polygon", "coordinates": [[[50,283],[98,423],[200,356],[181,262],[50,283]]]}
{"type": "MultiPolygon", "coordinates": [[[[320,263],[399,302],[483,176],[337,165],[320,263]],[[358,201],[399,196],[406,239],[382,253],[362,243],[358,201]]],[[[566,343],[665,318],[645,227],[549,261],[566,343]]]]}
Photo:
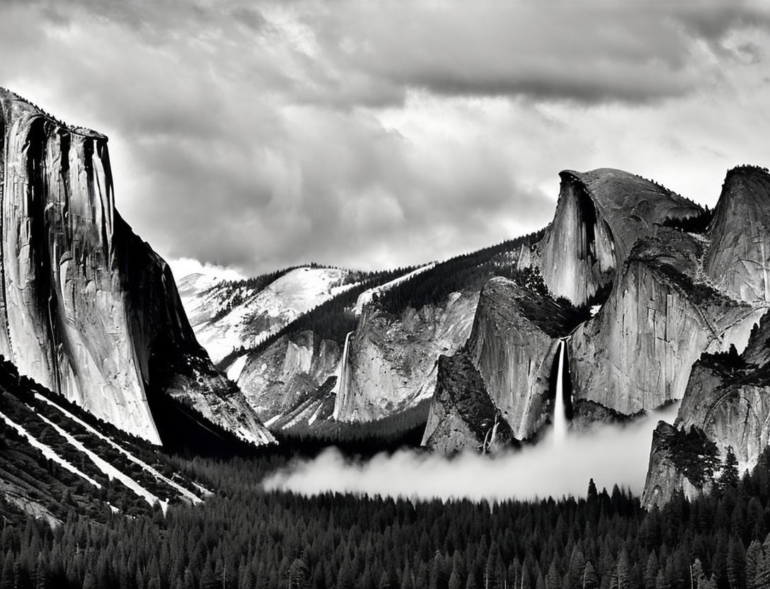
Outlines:
{"type": "Polygon", "coordinates": [[[728,172],[709,233],[708,276],[741,300],[770,302],[768,172],[752,167],[728,172]]]}

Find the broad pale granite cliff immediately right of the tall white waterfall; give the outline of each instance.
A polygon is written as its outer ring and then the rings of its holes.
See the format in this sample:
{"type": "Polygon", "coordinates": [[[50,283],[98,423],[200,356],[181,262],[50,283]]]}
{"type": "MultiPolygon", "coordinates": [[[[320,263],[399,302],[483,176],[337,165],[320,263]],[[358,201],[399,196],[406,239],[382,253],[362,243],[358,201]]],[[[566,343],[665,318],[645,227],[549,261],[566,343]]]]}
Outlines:
{"type": "Polygon", "coordinates": [[[570,340],[576,399],[634,415],[685,393],[702,352],[745,346],[764,310],[731,300],[698,277],[703,245],[661,228],[631,250],[598,315],[570,340]]]}

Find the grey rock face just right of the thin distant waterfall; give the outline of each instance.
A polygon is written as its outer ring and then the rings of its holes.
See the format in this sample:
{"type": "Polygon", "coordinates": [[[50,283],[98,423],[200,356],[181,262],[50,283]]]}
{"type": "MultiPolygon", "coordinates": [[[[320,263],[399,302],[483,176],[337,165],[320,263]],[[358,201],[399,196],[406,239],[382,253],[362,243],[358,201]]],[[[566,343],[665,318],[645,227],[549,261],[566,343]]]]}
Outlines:
{"type": "Polygon", "coordinates": [[[335,418],[377,420],[429,398],[436,387],[437,358],[465,343],[477,300],[474,293],[453,293],[444,306],[407,308],[398,317],[364,307],[350,336],[335,418]]]}

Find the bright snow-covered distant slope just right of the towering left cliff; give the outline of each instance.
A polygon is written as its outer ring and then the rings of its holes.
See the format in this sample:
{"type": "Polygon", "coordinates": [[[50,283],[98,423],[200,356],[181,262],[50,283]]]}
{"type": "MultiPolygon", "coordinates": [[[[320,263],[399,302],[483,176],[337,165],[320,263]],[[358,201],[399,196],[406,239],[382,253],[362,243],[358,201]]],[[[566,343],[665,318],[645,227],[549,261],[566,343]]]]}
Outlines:
{"type": "Polygon", "coordinates": [[[255,289],[248,282],[211,285],[203,275],[179,281],[182,305],[199,343],[214,362],[259,343],[298,316],[349,289],[347,271],[303,266],[255,289]]]}

